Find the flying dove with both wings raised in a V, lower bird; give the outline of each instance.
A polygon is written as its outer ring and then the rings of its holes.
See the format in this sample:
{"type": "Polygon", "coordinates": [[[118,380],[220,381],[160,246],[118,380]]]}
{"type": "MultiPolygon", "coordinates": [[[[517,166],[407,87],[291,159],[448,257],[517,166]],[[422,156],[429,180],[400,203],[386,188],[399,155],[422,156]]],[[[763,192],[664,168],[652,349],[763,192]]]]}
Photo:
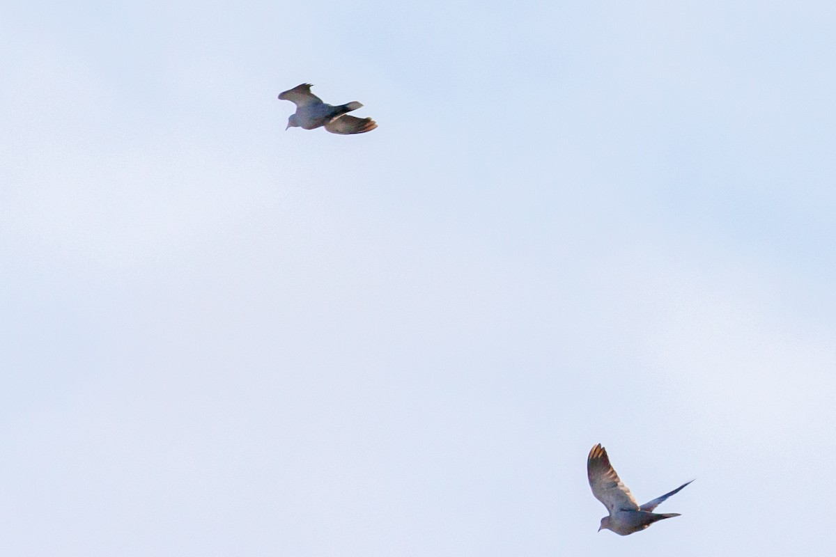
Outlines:
{"type": "Polygon", "coordinates": [[[601,443],[589,451],[586,472],[589,475],[589,487],[592,488],[595,499],[598,499],[609,510],[609,516],[601,519],[598,531],[610,529],[622,536],[643,530],[658,520],[679,516],[678,513],[655,514],[652,511],[662,501],[694,481],[686,482],[670,493],[639,505],[630,493],[630,489],[622,483],[619,474],[615,473],[609,463],[607,451],[601,447],[601,443]]]}

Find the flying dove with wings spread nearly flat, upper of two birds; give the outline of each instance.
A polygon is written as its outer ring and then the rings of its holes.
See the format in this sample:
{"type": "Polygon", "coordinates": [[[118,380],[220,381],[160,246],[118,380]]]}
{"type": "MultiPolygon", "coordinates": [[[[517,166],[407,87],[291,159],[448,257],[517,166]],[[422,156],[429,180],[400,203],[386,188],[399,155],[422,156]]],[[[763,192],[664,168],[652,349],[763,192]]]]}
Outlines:
{"type": "Polygon", "coordinates": [[[354,101],[332,106],[311,93],[311,87],[311,84],[301,84],[278,95],[279,99],[296,104],[296,113],[290,114],[288,118],[288,128],[314,129],[325,126],[332,134],[364,134],[377,127],[373,119],[346,114],[359,109],[362,104],[354,101]]]}

